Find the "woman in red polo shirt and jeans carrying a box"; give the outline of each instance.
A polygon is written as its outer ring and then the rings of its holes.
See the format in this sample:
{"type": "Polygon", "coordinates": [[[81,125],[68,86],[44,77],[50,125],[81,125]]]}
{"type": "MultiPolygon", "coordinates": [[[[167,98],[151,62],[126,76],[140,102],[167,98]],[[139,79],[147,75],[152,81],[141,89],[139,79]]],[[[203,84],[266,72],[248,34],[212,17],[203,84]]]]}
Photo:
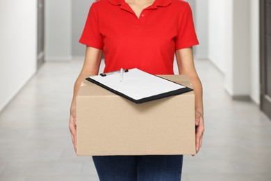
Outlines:
{"type": "MultiPolygon", "coordinates": [[[[197,36],[190,6],[181,0],[100,0],[92,4],[80,42],[85,62],[74,85],[69,129],[76,150],[76,95],[85,77],[139,68],[151,74],[188,74],[195,91],[196,151],[204,133],[202,84],[193,62],[197,36]]],[[[101,181],[181,180],[182,155],[92,157],[101,181]]]]}

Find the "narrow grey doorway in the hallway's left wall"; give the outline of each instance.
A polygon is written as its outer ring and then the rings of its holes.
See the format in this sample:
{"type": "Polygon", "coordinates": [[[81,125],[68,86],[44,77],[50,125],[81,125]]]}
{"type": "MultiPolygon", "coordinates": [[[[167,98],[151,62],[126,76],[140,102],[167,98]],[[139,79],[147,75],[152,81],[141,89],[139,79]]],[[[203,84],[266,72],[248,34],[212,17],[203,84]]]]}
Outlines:
{"type": "Polygon", "coordinates": [[[38,0],[38,42],[37,42],[38,69],[44,63],[44,0],[38,0]]]}

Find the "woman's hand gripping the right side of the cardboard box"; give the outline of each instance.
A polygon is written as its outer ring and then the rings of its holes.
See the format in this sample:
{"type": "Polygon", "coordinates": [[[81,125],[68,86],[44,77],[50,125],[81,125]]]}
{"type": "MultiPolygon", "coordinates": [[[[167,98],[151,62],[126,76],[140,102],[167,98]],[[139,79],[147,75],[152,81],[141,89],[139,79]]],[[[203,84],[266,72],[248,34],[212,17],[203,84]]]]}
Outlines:
{"type": "MultiPolygon", "coordinates": [[[[195,111],[195,125],[196,125],[196,154],[202,147],[202,138],[204,134],[204,118],[199,111],[195,111]]],[[[192,155],[195,156],[195,155],[192,155]]]]}

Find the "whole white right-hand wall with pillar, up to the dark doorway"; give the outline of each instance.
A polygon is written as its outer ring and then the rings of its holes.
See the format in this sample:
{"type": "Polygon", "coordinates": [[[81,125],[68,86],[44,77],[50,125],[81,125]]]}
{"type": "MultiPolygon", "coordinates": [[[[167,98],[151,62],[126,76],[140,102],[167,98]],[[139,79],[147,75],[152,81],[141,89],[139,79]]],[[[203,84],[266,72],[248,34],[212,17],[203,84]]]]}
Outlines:
{"type": "Polygon", "coordinates": [[[233,98],[259,104],[259,2],[208,0],[209,58],[233,98]]]}

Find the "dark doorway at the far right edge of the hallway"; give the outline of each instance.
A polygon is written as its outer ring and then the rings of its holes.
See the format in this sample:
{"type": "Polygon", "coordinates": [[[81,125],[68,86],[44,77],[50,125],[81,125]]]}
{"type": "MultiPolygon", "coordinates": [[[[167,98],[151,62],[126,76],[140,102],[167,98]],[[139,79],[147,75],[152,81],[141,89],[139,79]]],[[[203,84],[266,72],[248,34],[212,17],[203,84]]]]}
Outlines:
{"type": "Polygon", "coordinates": [[[261,110],[271,119],[271,0],[261,2],[261,110]]]}

